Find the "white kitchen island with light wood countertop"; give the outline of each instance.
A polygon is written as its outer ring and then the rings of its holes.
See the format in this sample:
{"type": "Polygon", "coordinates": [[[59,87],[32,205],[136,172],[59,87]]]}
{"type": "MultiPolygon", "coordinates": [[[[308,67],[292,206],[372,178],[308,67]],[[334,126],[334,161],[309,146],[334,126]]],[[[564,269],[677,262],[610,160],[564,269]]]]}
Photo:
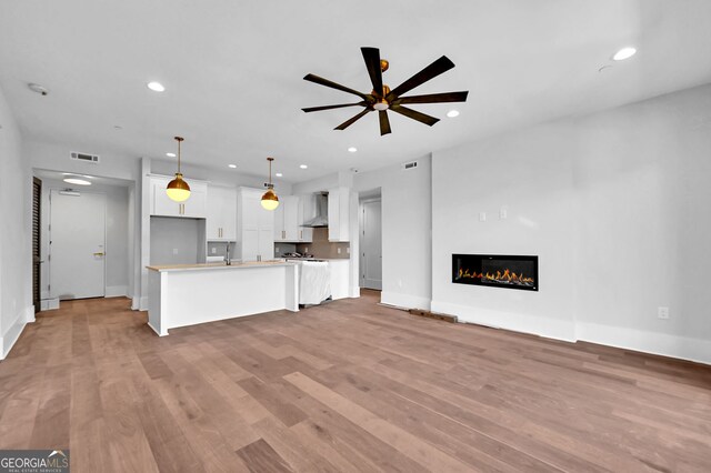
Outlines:
{"type": "Polygon", "coordinates": [[[169,329],[277,310],[299,311],[299,266],[283,260],[151,265],[148,325],[169,329]]]}

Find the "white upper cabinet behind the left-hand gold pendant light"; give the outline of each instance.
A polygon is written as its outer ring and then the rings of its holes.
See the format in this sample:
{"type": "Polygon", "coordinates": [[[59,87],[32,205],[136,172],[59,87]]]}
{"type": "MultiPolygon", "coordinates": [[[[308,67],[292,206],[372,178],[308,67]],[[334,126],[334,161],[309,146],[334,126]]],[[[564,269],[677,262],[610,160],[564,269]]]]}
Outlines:
{"type": "Polygon", "coordinates": [[[183,202],[170,200],[166,193],[173,178],[151,175],[151,215],[204,219],[208,208],[208,185],[202,181],[186,181],[190,184],[190,198],[183,202]]]}

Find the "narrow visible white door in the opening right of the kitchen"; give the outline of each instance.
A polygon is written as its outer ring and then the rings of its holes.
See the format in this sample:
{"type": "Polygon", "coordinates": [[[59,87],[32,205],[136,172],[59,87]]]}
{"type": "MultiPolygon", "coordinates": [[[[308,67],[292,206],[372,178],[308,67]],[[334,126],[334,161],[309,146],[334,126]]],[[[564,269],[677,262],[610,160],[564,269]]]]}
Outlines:
{"type": "Polygon", "coordinates": [[[363,203],[361,285],[382,290],[382,211],[380,201],[363,203]]]}

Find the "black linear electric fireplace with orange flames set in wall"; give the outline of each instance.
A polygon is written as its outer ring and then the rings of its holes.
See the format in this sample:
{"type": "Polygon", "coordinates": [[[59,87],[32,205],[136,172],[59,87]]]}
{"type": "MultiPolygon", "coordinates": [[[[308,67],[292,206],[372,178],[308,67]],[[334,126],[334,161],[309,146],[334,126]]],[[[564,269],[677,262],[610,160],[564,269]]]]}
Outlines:
{"type": "Polygon", "coordinates": [[[538,291],[538,256],[452,254],[452,282],[538,291]]]}

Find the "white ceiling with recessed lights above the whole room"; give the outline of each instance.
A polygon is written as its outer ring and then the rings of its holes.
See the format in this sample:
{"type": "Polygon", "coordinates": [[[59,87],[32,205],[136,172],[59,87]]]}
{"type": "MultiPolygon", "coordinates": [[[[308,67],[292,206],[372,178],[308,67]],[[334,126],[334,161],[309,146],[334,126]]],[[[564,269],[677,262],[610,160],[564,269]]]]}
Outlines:
{"type": "Polygon", "coordinates": [[[181,134],[186,162],[263,174],[273,155],[300,182],[711,82],[709,24],[709,0],[6,0],[0,87],[29,140],[166,159],[181,134]],[[598,72],[628,44],[635,57],[598,72]],[[374,113],[332,130],[359,108],[303,113],[358,100],[309,72],[370,91],[363,46],[390,60],[392,88],[447,54],[457,67],[410,94],[469,100],[413,105],[432,128],[390,113],[385,137],[374,113]]]}

